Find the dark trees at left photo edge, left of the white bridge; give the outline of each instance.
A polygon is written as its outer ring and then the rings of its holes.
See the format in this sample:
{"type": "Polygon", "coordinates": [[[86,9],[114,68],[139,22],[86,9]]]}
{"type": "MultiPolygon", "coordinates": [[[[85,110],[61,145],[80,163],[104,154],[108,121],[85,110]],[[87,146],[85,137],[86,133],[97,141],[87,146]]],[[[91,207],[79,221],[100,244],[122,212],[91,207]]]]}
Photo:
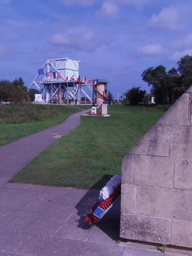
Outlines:
{"type": "Polygon", "coordinates": [[[35,93],[39,93],[39,91],[35,89],[30,89],[29,92],[27,91],[27,87],[24,86],[24,81],[21,77],[12,82],[9,80],[0,81],[0,102],[23,105],[27,102],[34,101],[35,93]]]}

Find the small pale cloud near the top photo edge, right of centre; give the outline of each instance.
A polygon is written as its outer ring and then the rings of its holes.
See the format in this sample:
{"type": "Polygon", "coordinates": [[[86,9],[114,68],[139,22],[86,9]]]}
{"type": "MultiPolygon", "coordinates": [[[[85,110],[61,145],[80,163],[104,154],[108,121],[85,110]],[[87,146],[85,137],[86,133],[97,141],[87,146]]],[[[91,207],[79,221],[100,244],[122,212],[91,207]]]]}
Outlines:
{"type": "Polygon", "coordinates": [[[119,7],[114,3],[105,2],[103,3],[101,9],[98,11],[98,14],[110,19],[119,18],[119,7]]]}

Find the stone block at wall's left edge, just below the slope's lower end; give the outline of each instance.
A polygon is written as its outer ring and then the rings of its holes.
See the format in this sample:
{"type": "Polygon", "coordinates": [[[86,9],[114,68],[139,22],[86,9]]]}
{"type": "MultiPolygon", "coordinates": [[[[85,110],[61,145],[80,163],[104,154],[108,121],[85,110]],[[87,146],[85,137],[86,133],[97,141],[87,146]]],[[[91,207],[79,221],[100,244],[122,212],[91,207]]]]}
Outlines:
{"type": "Polygon", "coordinates": [[[174,159],[128,154],[122,163],[122,183],[173,187],[174,159]]]}

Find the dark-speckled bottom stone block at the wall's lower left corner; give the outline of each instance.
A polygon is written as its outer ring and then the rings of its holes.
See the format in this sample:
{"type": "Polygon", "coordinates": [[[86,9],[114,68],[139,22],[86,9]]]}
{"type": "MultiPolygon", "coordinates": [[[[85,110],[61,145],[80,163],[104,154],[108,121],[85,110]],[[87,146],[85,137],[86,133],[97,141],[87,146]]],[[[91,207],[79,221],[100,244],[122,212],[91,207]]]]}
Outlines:
{"type": "Polygon", "coordinates": [[[153,243],[170,243],[171,221],[133,214],[121,214],[120,237],[153,243]]]}

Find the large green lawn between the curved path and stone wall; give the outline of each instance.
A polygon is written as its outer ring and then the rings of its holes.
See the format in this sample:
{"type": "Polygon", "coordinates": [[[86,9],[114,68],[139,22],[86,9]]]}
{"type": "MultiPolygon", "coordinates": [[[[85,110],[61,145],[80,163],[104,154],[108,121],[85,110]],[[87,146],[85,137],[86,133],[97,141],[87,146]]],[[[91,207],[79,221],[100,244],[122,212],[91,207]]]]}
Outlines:
{"type": "Polygon", "coordinates": [[[124,155],[164,113],[111,105],[110,117],[81,117],[81,126],[41,152],[11,182],[101,188],[121,173],[124,155]],[[99,181],[99,182],[98,182],[99,181]]]}

